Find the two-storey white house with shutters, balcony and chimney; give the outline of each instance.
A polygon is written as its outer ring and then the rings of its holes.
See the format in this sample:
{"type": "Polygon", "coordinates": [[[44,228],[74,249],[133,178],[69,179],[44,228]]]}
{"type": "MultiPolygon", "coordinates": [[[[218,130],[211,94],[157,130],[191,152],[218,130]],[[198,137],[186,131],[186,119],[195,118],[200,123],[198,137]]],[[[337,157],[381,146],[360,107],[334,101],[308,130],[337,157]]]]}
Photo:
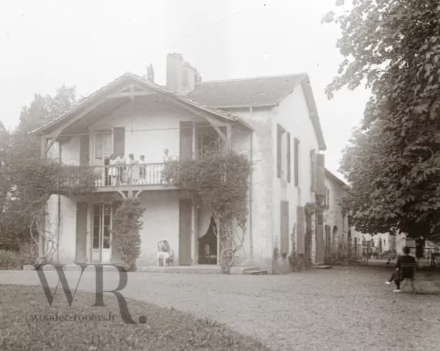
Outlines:
{"type": "Polygon", "coordinates": [[[33,133],[41,136],[43,153],[57,144],[61,162],[87,164],[100,174],[89,196],[52,195],[56,262],[118,262],[109,228],[120,201],[135,197],[146,208],[138,266],[155,264],[164,239],[175,264],[218,264],[211,214],[164,182],[161,170],[164,157],[198,158],[203,147],[223,141],[254,164],[242,264],[286,270],[294,224],[298,253],[324,262],[322,218],[312,223],[311,245],[305,240],[305,205],[324,195],[326,149],[307,74],[195,83],[190,64],[168,54],[166,87],[126,73],[33,133]],[[122,153],[145,156],[146,180],[112,182],[109,158],[122,153]]]}

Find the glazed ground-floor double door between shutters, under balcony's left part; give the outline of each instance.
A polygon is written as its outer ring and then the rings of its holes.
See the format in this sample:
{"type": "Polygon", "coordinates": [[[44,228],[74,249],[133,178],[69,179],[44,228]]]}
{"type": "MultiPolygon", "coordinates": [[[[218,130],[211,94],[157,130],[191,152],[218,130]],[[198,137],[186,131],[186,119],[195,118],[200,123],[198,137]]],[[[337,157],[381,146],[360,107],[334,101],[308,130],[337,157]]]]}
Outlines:
{"type": "Polygon", "coordinates": [[[93,209],[92,261],[111,262],[111,204],[96,203],[93,209]]]}

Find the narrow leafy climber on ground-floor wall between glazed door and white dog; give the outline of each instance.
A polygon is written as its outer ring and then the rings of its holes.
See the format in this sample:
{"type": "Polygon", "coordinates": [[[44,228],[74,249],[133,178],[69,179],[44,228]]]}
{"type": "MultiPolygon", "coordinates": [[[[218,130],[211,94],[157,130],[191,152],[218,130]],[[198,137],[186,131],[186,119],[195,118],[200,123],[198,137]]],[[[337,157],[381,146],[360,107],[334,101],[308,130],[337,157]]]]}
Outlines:
{"type": "Polygon", "coordinates": [[[127,270],[136,270],[136,260],[140,256],[140,231],[145,209],[138,200],[127,199],[116,210],[113,219],[113,245],[120,253],[127,270]]]}

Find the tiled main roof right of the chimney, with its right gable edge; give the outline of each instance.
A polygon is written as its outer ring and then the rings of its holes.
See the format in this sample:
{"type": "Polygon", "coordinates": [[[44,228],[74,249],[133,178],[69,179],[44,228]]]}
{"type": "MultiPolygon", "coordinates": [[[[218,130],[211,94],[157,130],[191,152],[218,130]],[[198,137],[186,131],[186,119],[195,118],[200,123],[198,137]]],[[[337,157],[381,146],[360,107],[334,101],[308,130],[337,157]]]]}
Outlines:
{"type": "Polygon", "coordinates": [[[327,149],[319,120],[318,108],[306,73],[208,81],[197,83],[186,96],[193,101],[219,109],[238,107],[275,107],[291,94],[297,85],[303,87],[311,123],[314,126],[320,150],[327,149]]]}

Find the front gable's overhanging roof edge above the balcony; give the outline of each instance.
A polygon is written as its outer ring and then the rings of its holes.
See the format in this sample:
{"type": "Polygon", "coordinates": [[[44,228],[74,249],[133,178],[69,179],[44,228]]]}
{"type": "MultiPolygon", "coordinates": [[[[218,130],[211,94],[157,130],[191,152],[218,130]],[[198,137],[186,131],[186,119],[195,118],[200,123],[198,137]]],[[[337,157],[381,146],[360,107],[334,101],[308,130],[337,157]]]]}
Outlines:
{"type": "Polygon", "coordinates": [[[202,111],[206,111],[206,112],[213,114],[214,116],[217,116],[219,118],[224,118],[226,120],[240,123],[244,127],[252,130],[252,127],[250,127],[250,125],[248,125],[248,123],[245,123],[245,121],[241,120],[241,118],[236,117],[226,111],[222,111],[221,109],[216,109],[215,107],[203,105],[203,103],[197,103],[195,101],[190,100],[186,96],[172,92],[172,91],[166,89],[165,87],[162,87],[161,85],[157,85],[155,83],[152,83],[151,81],[147,81],[146,79],[142,78],[141,76],[137,76],[136,74],[133,74],[131,72],[126,72],[122,76],[116,78],[111,83],[104,85],[104,87],[101,87],[93,94],[90,94],[89,96],[87,96],[87,98],[80,101],[80,103],[78,103],[77,105],[72,107],[72,109],[69,109],[68,111],[66,111],[65,114],[59,116],[58,118],[54,118],[54,119],[48,121],[47,123],[44,123],[43,125],[41,125],[37,129],[35,129],[34,131],[31,131],[30,134],[36,134],[39,132],[43,133],[43,131],[45,131],[45,129],[52,127],[56,123],[60,123],[63,120],[68,120],[69,118],[72,118],[76,113],[79,113],[83,109],[87,108],[87,106],[91,105],[91,103],[93,103],[94,100],[101,98],[102,96],[106,96],[111,91],[111,89],[113,89],[114,87],[117,87],[118,85],[120,85],[120,83],[122,83],[124,81],[134,81],[135,83],[140,83],[142,85],[145,85],[146,87],[150,87],[151,89],[156,90],[159,93],[166,94],[166,95],[170,96],[170,98],[175,98],[176,100],[179,100],[182,103],[186,103],[192,107],[196,107],[197,109],[201,109],[202,111]]]}

